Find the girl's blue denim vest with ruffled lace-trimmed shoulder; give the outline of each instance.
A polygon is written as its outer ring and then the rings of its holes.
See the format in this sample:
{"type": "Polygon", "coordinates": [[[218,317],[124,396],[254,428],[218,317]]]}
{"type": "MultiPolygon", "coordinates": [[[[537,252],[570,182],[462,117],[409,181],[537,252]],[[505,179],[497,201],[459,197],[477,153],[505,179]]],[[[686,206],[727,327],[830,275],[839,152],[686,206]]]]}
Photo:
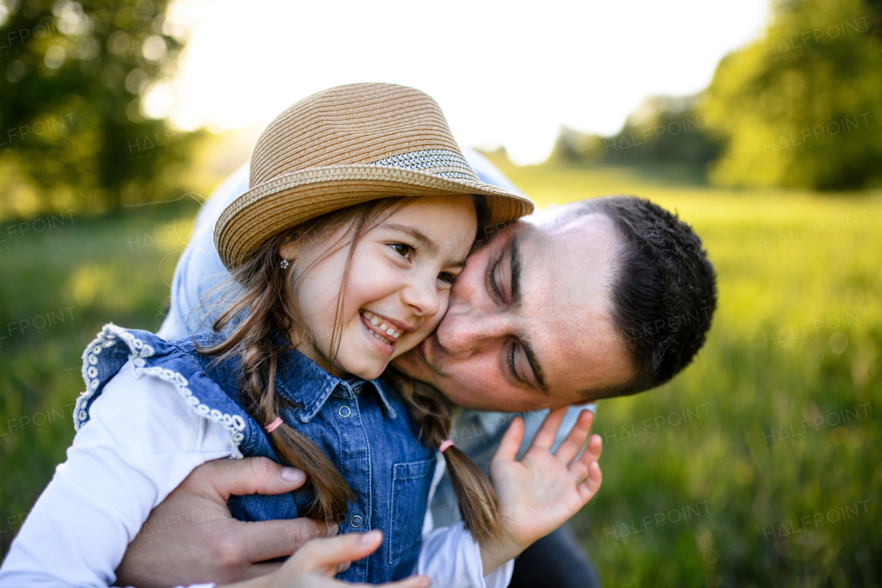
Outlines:
{"type": "MultiPolygon", "coordinates": [[[[221,335],[197,335],[201,346],[220,343],[221,335]]],[[[83,353],[86,392],[73,413],[77,430],[89,420],[89,409],[107,382],[131,359],[135,377],[144,374],[168,381],[199,416],[230,433],[233,456],[265,456],[280,462],[267,440],[264,424],[243,409],[239,395],[238,359],[215,364],[195,349],[194,339],[168,342],[146,331],[108,324],[83,353]]],[[[369,557],[352,562],[341,580],[378,584],[407,577],[422,545],[422,522],[429,500],[435,451],[424,447],[415,422],[398,393],[379,380],[349,385],[290,351],[280,358],[278,394],[298,408],[281,417],[325,452],[355,493],[348,502],[340,532],[379,529],[383,545],[369,557]]],[[[309,504],[310,489],[288,494],[231,497],[230,511],[243,521],[295,518],[309,504]]]]}

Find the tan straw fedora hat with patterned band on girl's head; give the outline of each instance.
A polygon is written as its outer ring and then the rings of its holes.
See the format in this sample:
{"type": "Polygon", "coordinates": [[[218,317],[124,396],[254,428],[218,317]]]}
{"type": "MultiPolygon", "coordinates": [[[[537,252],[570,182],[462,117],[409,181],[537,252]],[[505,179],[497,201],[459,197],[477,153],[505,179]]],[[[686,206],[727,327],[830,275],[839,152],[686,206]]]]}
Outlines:
{"type": "Polygon", "coordinates": [[[282,230],[368,200],[482,194],[491,222],[533,212],[529,200],[478,179],[437,102],[393,84],[332,87],[282,112],[254,147],[249,186],[214,227],[228,269],[282,230]]]}

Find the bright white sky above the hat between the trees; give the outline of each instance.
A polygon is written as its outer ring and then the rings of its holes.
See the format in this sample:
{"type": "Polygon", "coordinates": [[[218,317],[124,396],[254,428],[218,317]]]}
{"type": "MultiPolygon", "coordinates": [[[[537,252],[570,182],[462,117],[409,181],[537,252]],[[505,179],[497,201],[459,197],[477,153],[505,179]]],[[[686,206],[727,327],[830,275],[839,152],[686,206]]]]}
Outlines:
{"type": "Polygon", "coordinates": [[[462,146],[541,162],[561,125],[610,134],[648,95],[706,87],[768,15],[767,0],[176,0],[191,38],[147,108],[234,129],[325,87],[392,82],[434,97],[462,146]]]}

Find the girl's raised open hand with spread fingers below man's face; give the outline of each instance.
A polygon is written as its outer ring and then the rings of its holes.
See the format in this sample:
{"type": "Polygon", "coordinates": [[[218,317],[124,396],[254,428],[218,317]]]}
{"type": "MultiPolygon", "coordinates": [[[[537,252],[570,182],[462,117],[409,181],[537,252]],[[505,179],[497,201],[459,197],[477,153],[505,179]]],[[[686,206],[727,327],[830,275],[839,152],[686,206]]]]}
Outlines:
{"type": "Polygon", "coordinates": [[[594,413],[582,411],[576,425],[555,453],[551,445],[566,407],[551,411],[527,453],[515,461],[524,436],[524,422],[512,421],[496,455],[490,462],[490,481],[497,493],[499,511],[505,529],[502,545],[482,549],[484,573],[508,561],[564,524],[590,501],[601,486],[600,435],[592,435],[585,444],[594,413]]]}

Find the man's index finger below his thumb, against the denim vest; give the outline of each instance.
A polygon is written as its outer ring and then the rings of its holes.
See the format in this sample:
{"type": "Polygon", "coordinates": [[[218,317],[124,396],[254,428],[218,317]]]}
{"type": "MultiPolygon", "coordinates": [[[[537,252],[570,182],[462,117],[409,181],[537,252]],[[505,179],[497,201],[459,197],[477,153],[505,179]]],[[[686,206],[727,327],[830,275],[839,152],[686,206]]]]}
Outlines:
{"type": "Polygon", "coordinates": [[[336,524],[327,525],[311,518],[243,523],[235,544],[243,546],[247,562],[265,562],[295,553],[311,539],[333,537],[336,524]]]}

